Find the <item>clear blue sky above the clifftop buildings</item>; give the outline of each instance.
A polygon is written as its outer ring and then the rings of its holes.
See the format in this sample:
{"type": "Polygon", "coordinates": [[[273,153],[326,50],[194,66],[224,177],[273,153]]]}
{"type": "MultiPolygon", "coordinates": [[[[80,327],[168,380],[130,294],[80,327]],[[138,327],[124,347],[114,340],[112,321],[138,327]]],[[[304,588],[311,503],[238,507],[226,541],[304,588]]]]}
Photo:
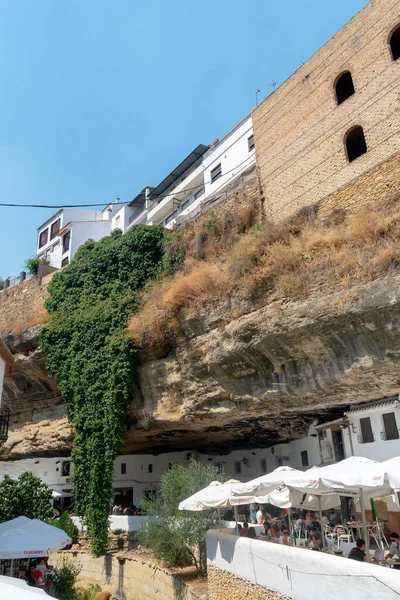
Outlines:
{"type": "MultiPolygon", "coordinates": [[[[0,0],[0,202],[130,200],[366,4],[0,0]]],[[[0,276],[19,273],[52,212],[0,207],[0,276]]]]}

